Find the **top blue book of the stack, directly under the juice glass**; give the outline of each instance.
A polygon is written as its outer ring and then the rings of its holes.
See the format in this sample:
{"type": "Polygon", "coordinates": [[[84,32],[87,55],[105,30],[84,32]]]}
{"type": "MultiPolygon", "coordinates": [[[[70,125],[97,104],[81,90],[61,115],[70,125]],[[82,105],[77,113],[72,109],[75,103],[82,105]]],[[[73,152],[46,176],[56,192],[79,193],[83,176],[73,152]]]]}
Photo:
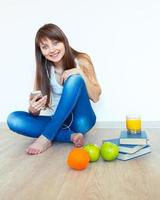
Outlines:
{"type": "Polygon", "coordinates": [[[147,145],[148,144],[148,135],[145,131],[140,133],[133,134],[128,133],[127,130],[121,131],[120,133],[120,144],[130,144],[130,145],[147,145]]]}

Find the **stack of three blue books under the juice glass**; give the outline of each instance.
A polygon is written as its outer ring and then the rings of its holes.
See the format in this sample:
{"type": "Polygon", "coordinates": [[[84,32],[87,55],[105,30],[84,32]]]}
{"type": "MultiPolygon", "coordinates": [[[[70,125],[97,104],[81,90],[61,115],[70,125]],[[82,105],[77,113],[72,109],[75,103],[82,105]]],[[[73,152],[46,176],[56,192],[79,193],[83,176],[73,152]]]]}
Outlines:
{"type": "Polygon", "coordinates": [[[151,152],[146,131],[133,134],[123,130],[119,138],[103,140],[103,142],[112,142],[119,146],[119,155],[117,157],[119,160],[130,160],[151,152]]]}

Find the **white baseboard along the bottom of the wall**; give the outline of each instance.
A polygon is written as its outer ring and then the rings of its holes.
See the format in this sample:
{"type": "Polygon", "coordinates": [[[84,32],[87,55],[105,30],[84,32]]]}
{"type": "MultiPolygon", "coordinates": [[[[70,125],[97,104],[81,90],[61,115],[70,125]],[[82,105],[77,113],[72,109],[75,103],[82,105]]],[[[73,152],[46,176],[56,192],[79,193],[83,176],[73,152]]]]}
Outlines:
{"type": "MultiPolygon", "coordinates": [[[[0,128],[8,128],[5,122],[0,122],[0,128]]],[[[125,128],[125,122],[122,121],[97,121],[94,128],[125,128]]],[[[144,121],[142,128],[160,128],[160,121],[144,121]]]]}

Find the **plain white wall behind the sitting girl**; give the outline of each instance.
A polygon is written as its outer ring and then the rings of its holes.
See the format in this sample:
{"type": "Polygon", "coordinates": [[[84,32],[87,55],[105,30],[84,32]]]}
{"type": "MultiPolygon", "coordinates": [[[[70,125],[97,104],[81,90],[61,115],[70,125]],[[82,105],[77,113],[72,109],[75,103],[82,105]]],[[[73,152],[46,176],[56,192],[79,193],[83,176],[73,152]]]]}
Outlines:
{"type": "Polygon", "coordinates": [[[49,22],[93,60],[103,90],[94,105],[98,121],[122,121],[126,113],[159,120],[158,0],[1,0],[0,121],[28,106],[35,33],[49,22]]]}

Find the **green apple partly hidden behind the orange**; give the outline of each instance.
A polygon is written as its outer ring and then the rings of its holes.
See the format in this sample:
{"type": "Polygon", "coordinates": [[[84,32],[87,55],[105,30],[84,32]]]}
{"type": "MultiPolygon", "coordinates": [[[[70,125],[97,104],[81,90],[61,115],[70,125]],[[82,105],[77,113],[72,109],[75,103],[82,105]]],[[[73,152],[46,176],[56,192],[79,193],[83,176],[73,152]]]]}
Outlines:
{"type": "Polygon", "coordinates": [[[95,162],[100,157],[100,148],[96,144],[86,144],[83,147],[89,154],[90,162],[95,162]]]}

